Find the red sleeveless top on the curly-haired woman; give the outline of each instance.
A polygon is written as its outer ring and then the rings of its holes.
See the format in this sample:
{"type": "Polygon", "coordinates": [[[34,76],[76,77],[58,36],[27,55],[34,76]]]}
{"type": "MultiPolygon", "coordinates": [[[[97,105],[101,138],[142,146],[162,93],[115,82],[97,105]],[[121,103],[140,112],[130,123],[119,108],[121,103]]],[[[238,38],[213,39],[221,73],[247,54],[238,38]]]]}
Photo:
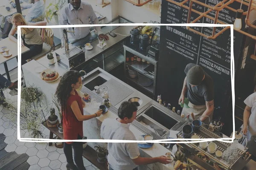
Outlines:
{"type": "MultiPolygon", "coordinates": [[[[81,97],[75,90],[76,95],[70,95],[67,99],[67,105],[65,111],[62,113],[62,121],[63,121],[63,136],[64,139],[67,140],[76,140],[77,136],[80,135],[83,137],[83,121],[78,121],[76,119],[76,115],[71,109],[72,102],[76,101],[78,103],[81,114],[84,115],[83,104],[81,101],[81,97]]],[[[71,144],[73,142],[66,142],[67,144],[71,144]]]]}

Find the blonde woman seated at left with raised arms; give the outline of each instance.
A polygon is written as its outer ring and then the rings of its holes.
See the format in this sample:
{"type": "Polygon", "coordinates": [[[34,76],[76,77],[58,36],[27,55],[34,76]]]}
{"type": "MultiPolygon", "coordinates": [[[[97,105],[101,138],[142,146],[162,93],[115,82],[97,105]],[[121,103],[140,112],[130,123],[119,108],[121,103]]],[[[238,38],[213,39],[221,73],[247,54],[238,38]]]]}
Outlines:
{"type": "MultiPolygon", "coordinates": [[[[17,26],[46,26],[46,21],[38,23],[27,23],[23,16],[19,13],[12,15],[12,30],[9,33],[9,38],[12,41],[17,42],[14,34],[17,31],[17,26]]],[[[45,28],[42,28],[42,32],[45,28]]],[[[30,50],[24,54],[21,54],[21,65],[26,64],[26,60],[42,52],[43,42],[45,40],[44,34],[40,35],[36,28],[21,28],[21,47],[26,46],[30,50]]]]}

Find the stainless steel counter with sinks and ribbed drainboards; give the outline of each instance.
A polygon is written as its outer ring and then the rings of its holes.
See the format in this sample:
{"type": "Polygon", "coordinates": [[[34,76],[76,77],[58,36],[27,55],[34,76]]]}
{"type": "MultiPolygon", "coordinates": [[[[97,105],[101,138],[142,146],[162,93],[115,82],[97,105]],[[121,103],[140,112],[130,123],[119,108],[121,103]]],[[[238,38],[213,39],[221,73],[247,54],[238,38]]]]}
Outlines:
{"type": "MultiPolygon", "coordinates": [[[[109,99],[111,102],[111,107],[109,108],[109,110],[115,114],[118,113],[117,110],[122,102],[128,101],[133,97],[138,97],[142,100],[142,104],[138,106],[137,119],[140,118],[140,116],[147,117],[148,119],[150,119],[152,127],[162,127],[162,129],[165,130],[165,133],[163,133],[162,135],[158,135],[157,133],[142,125],[137,120],[134,120],[132,125],[145,134],[151,134],[154,139],[163,139],[163,136],[166,136],[170,129],[177,130],[184,123],[186,123],[185,119],[181,118],[173,111],[165,108],[163,105],[158,104],[154,100],[150,99],[148,96],[145,96],[140,91],[137,91],[136,89],[132,88],[130,85],[127,85],[116,77],[113,77],[111,74],[107,73],[101,68],[96,68],[95,70],[87,74],[86,77],[84,77],[83,87],[81,89],[81,92],[90,94],[90,96],[92,98],[95,98],[97,102],[103,101],[101,95],[96,94],[93,88],[89,89],[89,84],[91,82],[96,82],[96,79],[98,79],[98,84],[94,85],[107,86],[109,99]],[[105,81],[99,83],[99,79],[105,79],[105,81]],[[149,113],[149,109],[152,108],[155,109],[155,112],[149,113]],[[172,125],[168,126],[168,123],[172,125]]],[[[91,85],[91,87],[94,86],[91,85]]]]}

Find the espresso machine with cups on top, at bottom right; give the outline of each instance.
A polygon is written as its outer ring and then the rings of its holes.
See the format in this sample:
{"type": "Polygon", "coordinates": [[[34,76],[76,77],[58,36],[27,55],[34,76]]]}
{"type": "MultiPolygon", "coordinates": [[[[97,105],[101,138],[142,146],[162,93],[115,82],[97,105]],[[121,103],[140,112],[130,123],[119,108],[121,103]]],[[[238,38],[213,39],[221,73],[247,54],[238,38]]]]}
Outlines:
{"type": "MultiPolygon", "coordinates": [[[[200,139],[220,139],[221,137],[212,132],[211,130],[208,130],[208,128],[201,126],[198,130],[194,130],[194,133],[196,133],[200,139]]],[[[177,134],[177,140],[178,139],[186,139],[183,136],[182,130],[180,130],[177,134]]],[[[224,138],[224,137],[223,137],[224,138]]],[[[227,138],[227,137],[226,137],[227,138]]],[[[182,140],[183,141],[183,140],[182,140]]],[[[226,150],[230,149],[230,146],[233,143],[227,143],[227,142],[220,142],[220,141],[212,141],[217,145],[216,150],[221,151],[224,153],[226,150]]],[[[208,142],[209,143],[209,142],[208,142]]],[[[243,167],[250,161],[250,154],[247,152],[248,148],[244,147],[242,144],[237,145],[234,152],[232,152],[229,156],[233,156],[233,153],[237,153],[235,159],[230,161],[229,158],[224,157],[223,155],[221,157],[216,156],[215,153],[209,153],[209,150],[207,148],[202,148],[200,146],[200,143],[178,143],[178,146],[180,146],[180,150],[185,154],[186,158],[193,161],[193,164],[195,164],[198,167],[203,167],[201,169],[205,170],[242,170],[243,167]],[[198,156],[198,153],[203,153],[205,156],[204,158],[201,158],[198,156]],[[205,160],[207,159],[207,160],[205,160]]]]}

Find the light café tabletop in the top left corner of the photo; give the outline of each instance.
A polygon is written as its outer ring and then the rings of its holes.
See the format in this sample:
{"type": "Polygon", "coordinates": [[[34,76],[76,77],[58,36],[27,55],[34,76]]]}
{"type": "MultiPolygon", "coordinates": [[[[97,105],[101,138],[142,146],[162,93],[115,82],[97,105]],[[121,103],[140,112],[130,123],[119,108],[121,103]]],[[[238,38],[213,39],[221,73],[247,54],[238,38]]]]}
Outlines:
{"type": "MultiPolygon", "coordinates": [[[[12,7],[11,4],[10,4],[11,1],[9,0],[1,0],[1,3],[0,3],[0,15],[2,15],[3,17],[8,17],[8,16],[11,16],[15,13],[17,13],[17,9],[16,8],[12,8],[10,11],[7,11],[6,10],[6,7],[12,7]]],[[[27,4],[25,2],[23,3],[20,3],[20,5],[23,5],[23,4],[27,4]]],[[[22,15],[23,16],[26,16],[29,12],[29,8],[27,9],[24,9],[22,10],[22,15]]]]}

